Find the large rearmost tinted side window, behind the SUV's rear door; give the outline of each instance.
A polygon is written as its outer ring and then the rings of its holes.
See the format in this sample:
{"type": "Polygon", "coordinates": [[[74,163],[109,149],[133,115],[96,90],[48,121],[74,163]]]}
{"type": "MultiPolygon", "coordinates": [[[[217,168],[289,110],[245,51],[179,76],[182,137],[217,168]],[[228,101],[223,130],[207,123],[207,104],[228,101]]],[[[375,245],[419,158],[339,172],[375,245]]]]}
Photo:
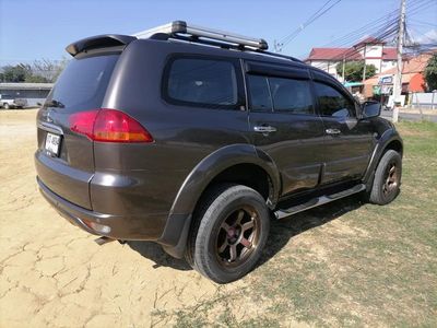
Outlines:
{"type": "Polygon", "coordinates": [[[176,59],[168,73],[167,96],[188,105],[235,107],[238,92],[234,65],[224,60],[176,59]]]}

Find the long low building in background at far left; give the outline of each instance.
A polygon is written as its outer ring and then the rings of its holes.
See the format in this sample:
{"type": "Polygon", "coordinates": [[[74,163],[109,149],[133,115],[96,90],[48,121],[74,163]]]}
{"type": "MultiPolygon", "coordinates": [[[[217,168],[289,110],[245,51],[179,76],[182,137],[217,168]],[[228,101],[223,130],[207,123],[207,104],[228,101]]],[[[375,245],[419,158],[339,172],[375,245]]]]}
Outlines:
{"type": "Polygon", "coordinates": [[[0,83],[0,94],[27,101],[27,106],[43,104],[50,92],[52,83],[0,83]]]}

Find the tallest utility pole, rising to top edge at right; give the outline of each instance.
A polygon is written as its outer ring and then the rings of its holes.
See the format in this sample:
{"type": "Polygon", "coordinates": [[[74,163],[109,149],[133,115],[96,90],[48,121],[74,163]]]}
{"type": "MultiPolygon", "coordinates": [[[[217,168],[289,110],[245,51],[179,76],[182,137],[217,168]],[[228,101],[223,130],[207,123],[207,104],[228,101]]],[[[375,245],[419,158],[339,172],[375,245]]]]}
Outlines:
{"type": "Polygon", "coordinates": [[[401,9],[399,14],[399,28],[398,28],[398,68],[393,83],[393,122],[398,121],[399,107],[397,104],[401,103],[402,93],[402,48],[405,34],[405,1],[401,0],[401,9]]]}

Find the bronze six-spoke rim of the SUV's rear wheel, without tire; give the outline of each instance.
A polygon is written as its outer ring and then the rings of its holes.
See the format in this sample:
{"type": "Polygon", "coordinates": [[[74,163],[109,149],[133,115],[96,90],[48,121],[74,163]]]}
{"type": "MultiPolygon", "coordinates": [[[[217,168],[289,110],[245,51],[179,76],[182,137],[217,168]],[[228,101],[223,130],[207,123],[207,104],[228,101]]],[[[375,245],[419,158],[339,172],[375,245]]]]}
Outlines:
{"type": "Polygon", "coordinates": [[[216,237],[215,254],[224,267],[246,262],[258,247],[260,218],[252,207],[243,207],[227,215],[216,237]]]}

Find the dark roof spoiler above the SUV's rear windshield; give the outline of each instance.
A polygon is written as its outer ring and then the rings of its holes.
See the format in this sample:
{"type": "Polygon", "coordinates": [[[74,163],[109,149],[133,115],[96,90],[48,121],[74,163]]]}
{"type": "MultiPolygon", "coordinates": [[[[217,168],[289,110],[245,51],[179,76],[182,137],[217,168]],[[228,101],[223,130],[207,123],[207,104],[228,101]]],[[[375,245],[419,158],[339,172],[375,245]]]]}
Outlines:
{"type": "Polygon", "coordinates": [[[137,37],[131,35],[119,35],[119,34],[103,34],[86,37],[80,39],[71,45],[67,46],[66,50],[71,56],[75,56],[79,52],[82,52],[87,49],[97,49],[105,47],[115,47],[115,46],[126,46],[137,39],[137,37]]]}

